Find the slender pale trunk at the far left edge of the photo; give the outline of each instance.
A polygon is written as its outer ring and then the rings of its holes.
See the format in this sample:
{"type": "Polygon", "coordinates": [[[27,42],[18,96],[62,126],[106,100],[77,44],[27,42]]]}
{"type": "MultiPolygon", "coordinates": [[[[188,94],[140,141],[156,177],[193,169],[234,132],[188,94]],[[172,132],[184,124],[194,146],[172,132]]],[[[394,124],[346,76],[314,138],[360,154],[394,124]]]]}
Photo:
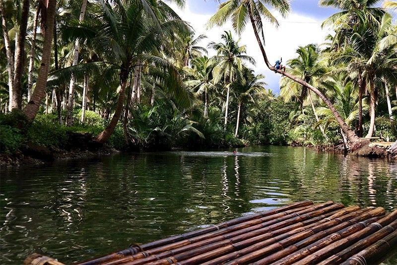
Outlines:
{"type": "MultiPolygon", "coordinates": [[[[7,23],[5,20],[5,13],[4,13],[4,7],[3,7],[3,2],[0,2],[0,14],[1,14],[1,29],[3,32],[3,37],[4,37],[4,46],[5,46],[5,54],[7,57],[7,72],[8,72],[8,97],[9,97],[9,102],[12,100],[12,90],[14,87],[14,58],[12,57],[12,52],[11,52],[11,46],[10,46],[10,41],[9,41],[9,36],[8,36],[8,29],[7,29],[7,23]]],[[[12,104],[8,104],[8,111],[12,110],[12,104]]]]}

